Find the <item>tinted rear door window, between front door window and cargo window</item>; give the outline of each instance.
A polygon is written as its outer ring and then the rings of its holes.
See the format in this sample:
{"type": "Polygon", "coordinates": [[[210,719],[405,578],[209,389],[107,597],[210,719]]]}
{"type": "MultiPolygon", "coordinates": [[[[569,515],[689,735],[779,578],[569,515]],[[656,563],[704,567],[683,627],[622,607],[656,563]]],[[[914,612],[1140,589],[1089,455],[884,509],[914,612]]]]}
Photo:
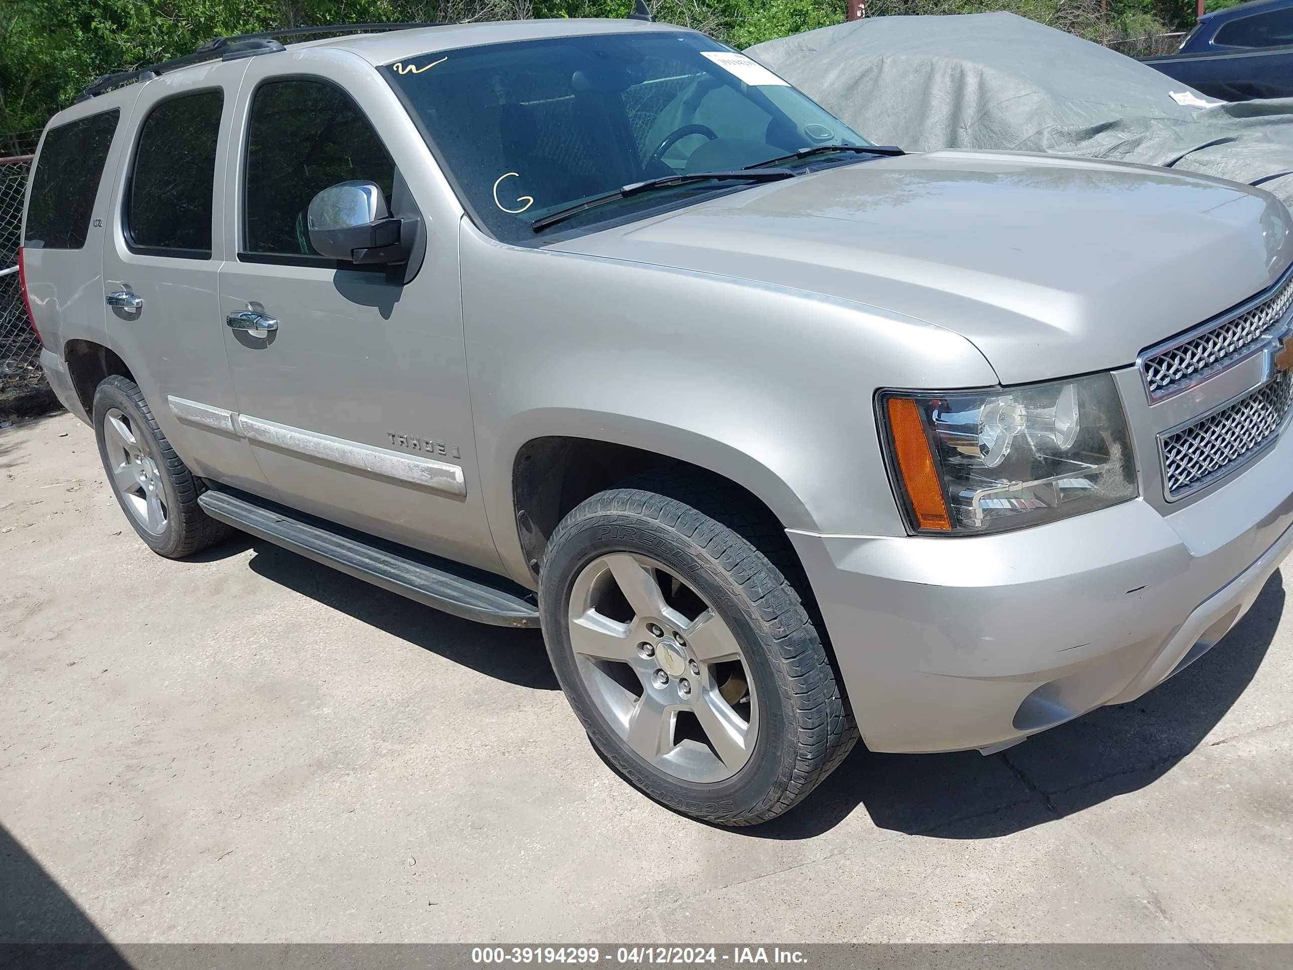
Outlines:
{"type": "Polygon", "coordinates": [[[144,122],[125,219],[131,248],[211,256],[211,194],[224,101],[220,91],[171,98],[144,122]]]}

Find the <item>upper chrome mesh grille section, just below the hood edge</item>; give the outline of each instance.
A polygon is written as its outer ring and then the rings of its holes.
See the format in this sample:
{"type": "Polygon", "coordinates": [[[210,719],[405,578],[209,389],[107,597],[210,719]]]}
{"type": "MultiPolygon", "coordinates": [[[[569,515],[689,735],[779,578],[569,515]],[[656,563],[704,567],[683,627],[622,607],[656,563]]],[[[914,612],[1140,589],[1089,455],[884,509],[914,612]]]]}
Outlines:
{"type": "Polygon", "coordinates": [[[1191,331],[1140,358],[1151,401],[1160,401],[1206,379],[1253,350],[1293,307],[1293,274],[1217,323],[1191,331]]]}

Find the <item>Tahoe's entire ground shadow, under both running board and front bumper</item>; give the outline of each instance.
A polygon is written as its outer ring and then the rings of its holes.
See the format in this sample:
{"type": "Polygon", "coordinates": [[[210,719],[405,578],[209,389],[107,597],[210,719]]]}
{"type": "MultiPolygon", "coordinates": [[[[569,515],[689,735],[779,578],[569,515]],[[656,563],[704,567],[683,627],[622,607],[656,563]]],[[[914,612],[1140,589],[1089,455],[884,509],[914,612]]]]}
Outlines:
{"type": "MultiPolygon", "coordinates": [[[[202,559],[247,548],[255,551],[252,570],[303,596],[486,676],[559,689],[535,630],[459,620],[242,534],[202,559]]],[[[861,806],[882,829],[934,838],[994,838],[1135,792],[1195,750],[1239,700],[1270,648],[1283,609],[1284,587],[1276,572],[1248,616],[1217,647],[1131,704],[1091,711],[988,758],[978,751],[875,754],[859,745],[793,811],[737,832],[753,838],[813,838],[861,806]]]]}

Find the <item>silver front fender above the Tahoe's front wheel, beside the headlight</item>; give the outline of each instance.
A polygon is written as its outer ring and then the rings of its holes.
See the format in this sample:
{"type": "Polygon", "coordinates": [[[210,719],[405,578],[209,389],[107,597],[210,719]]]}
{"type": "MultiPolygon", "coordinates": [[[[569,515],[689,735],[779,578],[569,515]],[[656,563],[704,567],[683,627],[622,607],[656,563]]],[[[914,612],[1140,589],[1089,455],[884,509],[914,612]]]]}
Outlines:
{"type": "Polygon", "coordinates": [[[762,282],[497,243],[462,224],[481,488],[528,581],[512,498],[525,442],[628,445],[723,475],[786,528],[901,535],[874,419],[881,387],[996,383],[941,327],[762,282]]]}

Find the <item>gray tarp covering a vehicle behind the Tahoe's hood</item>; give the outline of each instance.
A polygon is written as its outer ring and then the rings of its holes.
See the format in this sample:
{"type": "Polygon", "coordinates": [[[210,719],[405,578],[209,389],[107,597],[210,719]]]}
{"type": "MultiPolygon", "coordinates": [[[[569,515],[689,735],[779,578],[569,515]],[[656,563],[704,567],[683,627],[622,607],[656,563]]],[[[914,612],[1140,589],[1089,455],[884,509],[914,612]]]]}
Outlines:
{"type": "Polygon", "coordinates": [[[1293,208],[1293,98],[1201,94],[1011,13],[877,17],[747,52],[877,144],[1009,149],[1204,172],[1293,208]]]}

